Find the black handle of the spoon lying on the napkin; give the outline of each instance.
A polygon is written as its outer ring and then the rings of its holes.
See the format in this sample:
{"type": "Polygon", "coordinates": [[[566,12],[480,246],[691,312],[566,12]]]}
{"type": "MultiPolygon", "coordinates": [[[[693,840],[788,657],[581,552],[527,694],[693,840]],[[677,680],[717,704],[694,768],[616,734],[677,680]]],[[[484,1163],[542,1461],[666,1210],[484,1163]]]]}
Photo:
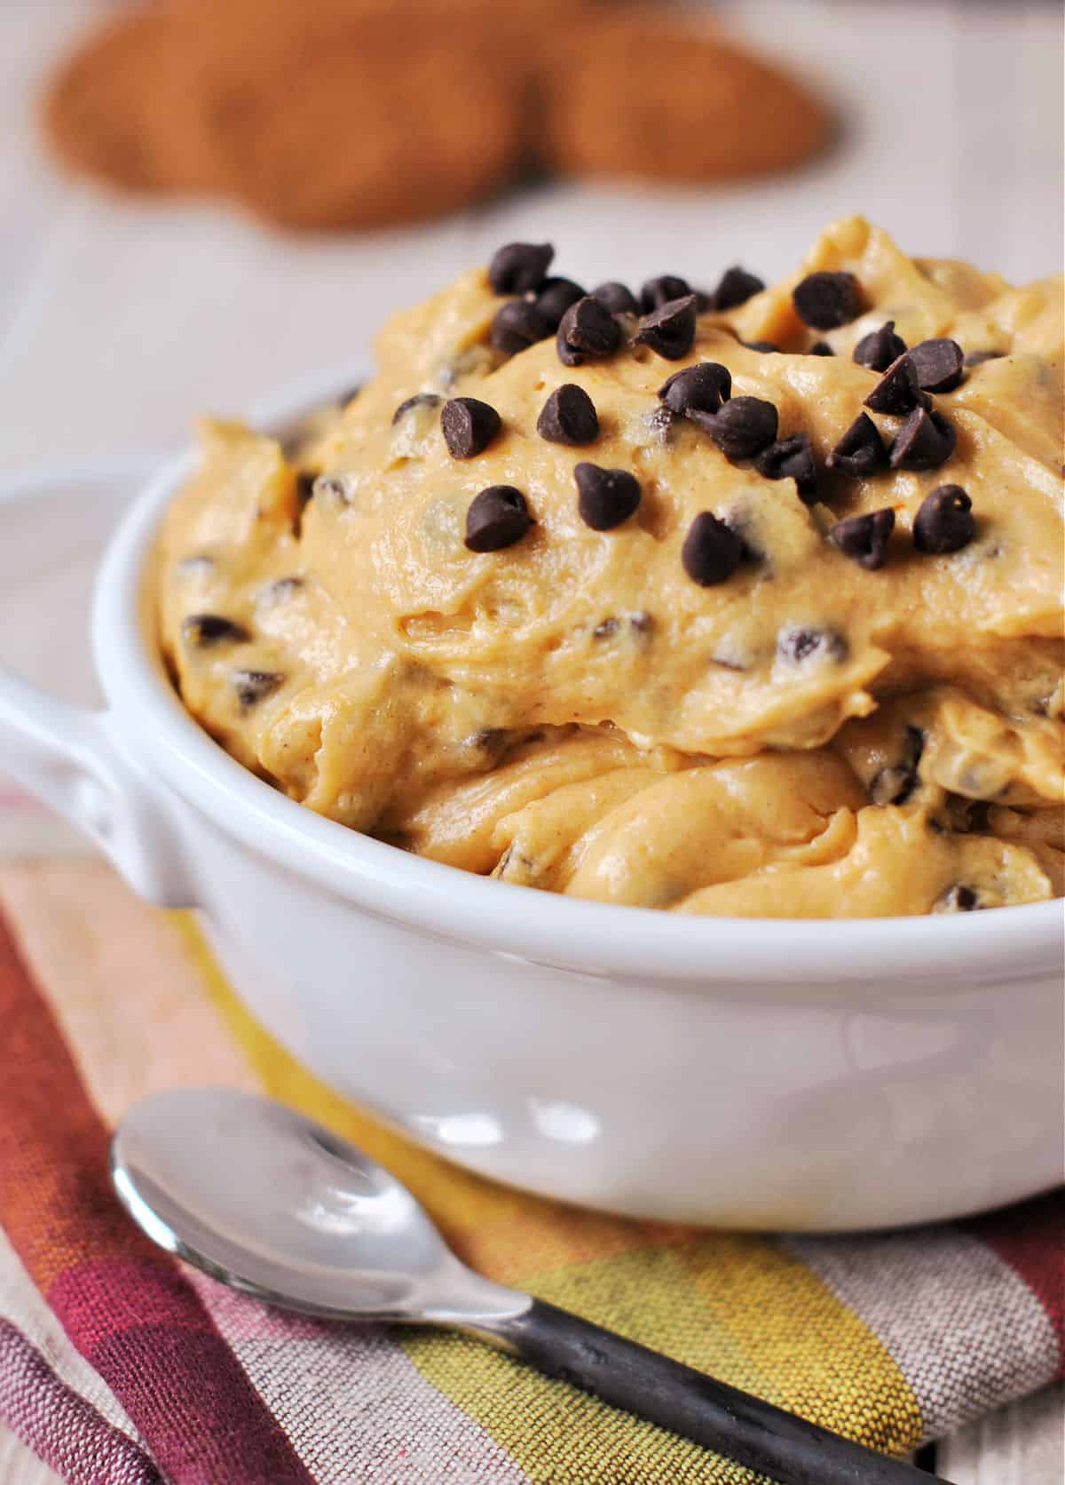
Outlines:
{"type": "Polygon", "coordinates": [[[780,1485],[949,1485],[543,1299],[476,1334],[780,1485]]]}

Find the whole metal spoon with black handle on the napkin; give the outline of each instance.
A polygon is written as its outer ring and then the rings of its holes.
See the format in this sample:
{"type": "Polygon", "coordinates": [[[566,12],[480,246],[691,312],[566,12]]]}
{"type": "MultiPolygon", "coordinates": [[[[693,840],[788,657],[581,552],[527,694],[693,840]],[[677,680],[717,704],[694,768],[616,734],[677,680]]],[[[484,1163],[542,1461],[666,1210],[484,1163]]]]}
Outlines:
{"type": "Polygon", "coordinates": [[[153,1241],[270,1304],[458,1328],[780,1485],[936,1479],[482,1279],[387,1170],[271,1099],[156,1094],[119,1126],[111,1175],[153,1241]]]}

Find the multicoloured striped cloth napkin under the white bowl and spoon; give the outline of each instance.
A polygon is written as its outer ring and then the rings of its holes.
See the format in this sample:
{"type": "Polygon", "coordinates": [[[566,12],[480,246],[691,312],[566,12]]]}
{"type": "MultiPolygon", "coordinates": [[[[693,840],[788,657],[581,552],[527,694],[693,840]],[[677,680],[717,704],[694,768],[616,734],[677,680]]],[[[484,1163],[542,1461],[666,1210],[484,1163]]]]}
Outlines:
{"type": "Polygon", "coordinates": [[[258,1028],[196,924],[95,861],[0,866],[0,1424],[73,1485],[754,1476],[472,1339],[270,1310],[153,1249],[108,1132],[177,1084],[260,1089],[409,1184],[458,1253],[903,1454],[1062,1375],[1065,1200],[863,1237],[616,1221],[463,1173],[258,1028]]]}

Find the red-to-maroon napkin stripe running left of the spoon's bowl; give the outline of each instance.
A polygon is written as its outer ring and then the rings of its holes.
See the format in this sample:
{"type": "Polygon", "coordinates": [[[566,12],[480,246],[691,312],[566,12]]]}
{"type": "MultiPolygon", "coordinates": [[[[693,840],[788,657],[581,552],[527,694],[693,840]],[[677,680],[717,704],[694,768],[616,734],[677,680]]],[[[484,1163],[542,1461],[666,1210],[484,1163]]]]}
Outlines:
{"type": "Polygon", "coordinates": [[[0,1225],[174,1485],[309,1485],[177,1264],[111,1192],[108,1132],[0,916],[0,1225]]]}

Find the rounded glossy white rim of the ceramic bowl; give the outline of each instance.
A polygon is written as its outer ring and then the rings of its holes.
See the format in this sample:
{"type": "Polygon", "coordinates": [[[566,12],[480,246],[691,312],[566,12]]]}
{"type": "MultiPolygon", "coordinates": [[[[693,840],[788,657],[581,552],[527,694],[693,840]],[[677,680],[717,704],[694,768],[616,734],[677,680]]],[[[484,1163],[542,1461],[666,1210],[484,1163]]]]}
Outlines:
{"type": "MultiPolygon", "coordinates": [[[[344,385],[307,377],[251,425],[288,431],[344,385]]],[[[92,647],[113,732],[141,769],[228,836],[329,897],[500,956],[623,980],[857,985],[934,979],[970,986],[1046,976],[1065,956],[1062,901],[911,918],[712,918],[593,903],[412,855],[317,815],[237,763],[184,710],[151,634],[147,593],[159,523],[196,462],[169,460],[125,512],[98,570],[92,647]],[[136,741],[141,747],[138,748],[136,741]],[[144,744],[150,753],[144,754],[144,744]]]]}

